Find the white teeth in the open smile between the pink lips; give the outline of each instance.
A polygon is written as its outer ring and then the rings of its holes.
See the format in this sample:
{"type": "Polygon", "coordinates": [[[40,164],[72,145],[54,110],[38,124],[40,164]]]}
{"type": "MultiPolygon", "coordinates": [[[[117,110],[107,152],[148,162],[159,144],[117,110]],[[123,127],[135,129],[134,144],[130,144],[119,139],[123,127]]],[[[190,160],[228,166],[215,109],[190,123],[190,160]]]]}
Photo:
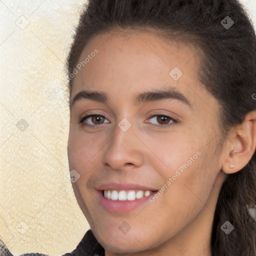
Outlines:
{"type": "Polygon", "coordinates": [[[105,198],[110,200],[133,201],[136,199],[140,199],[142,197],[149,196],[150,194],[156,191],[129,189],[129,190],[101,190],[101,192],[105,198]]]}

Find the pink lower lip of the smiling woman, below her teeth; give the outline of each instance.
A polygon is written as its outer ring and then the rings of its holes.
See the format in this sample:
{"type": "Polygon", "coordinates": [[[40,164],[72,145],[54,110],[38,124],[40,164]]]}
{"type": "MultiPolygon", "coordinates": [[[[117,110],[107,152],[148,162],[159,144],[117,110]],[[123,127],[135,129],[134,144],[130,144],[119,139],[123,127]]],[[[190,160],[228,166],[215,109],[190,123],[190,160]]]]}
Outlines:
{"type": "Polygon", "coordinates": [[[149,197],[153,196],[156,192],[143,196],[142,198],[135,200],[111,200],[103,196],[102,191],[97,190],[97,196],[103,208],[113,213],[125,213],[136,209],[138,206],[145,204],[149,201],[149,197]]]}

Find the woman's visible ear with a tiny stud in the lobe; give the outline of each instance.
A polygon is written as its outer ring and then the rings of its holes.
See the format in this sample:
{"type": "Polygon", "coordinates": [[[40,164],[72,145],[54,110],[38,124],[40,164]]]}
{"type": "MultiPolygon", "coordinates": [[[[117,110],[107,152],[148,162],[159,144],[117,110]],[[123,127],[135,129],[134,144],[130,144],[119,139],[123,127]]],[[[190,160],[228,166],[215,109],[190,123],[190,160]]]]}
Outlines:
{"type": "Polygon", "coordinates": [[[247,113],[241,124],[228,133],[221,153],[222,171],[230,174],[242,169],[256,147],[256,110],[247,113]]]}

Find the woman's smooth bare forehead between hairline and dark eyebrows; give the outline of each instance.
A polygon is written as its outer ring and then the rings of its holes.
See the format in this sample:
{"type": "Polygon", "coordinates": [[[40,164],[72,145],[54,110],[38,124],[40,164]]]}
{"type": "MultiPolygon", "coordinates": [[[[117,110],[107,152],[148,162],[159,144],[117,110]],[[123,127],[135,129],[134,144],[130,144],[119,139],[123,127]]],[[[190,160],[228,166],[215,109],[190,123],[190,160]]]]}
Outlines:
{"type": "Polygon", "coordinates": [[[177,86],[184,77],[197,78],[197,53],[192,44],[166,40],[152,31],[124,30],[96,35],[79,57],[77,64],[82,64],[76,68],[72,92],[84,86],[101,90],[113,86],[123,90],[125,85],[155,87],[156,83],[161,87],[166,82],[177,86]],[[95,50],[97,54],[93,53],[95,50]],[[182,73],[180,80],[170,76],[173,68],[182,73]]]}

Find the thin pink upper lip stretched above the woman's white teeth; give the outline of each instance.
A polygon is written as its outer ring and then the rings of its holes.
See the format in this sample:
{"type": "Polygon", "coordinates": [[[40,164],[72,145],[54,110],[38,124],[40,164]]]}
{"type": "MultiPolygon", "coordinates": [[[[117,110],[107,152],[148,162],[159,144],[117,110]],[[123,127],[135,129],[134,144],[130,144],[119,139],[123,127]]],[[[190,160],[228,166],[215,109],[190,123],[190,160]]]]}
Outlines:
{"type": "Polygon", "coordinates": [[[150,190],[157,191],[158,189],[150,186],[143,186],[136,183],[117,183],[117,182],[100,182],[95,185],[97,190],[150,190]]]}

